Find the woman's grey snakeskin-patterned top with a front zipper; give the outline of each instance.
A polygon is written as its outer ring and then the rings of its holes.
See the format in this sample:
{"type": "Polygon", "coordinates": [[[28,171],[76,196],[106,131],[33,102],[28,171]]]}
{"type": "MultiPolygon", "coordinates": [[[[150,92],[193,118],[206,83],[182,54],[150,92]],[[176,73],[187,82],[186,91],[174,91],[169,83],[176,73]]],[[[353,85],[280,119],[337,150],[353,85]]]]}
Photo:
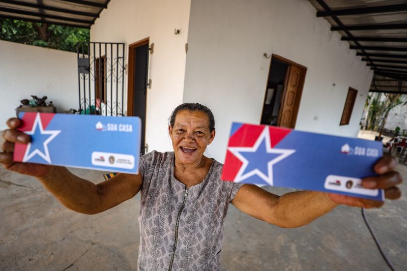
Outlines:
{"type": "Polygon", "coordinates": [[[174,177],[174,153],[140,157],[143,176],[139,270],[220,270],[228,205],[243,184],[220,179],[213,159],[206,178],[189,189],[174,177]]]}

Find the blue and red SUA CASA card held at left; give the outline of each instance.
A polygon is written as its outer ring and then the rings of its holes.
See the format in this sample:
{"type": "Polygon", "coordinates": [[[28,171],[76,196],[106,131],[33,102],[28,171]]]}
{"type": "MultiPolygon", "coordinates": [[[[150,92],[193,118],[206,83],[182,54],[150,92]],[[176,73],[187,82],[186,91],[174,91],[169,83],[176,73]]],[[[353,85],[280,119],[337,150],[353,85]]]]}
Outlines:
{"type": "Polygon", "coordinates": [[[100,115],[20,113],[31,143],[14,147],[14,161],[138,173],[140,119],[100,115]]]}

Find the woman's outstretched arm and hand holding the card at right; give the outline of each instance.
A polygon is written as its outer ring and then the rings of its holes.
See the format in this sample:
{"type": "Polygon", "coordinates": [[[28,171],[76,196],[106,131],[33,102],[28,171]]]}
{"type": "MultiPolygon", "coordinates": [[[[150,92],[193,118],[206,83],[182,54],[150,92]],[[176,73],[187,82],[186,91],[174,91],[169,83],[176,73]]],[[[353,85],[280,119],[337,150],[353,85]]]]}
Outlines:
{"type": "MultiPolygon", "coordinates": [[[[363,179],[362,185],[370,189],[384,189],[388,199],[399,198],[401,193],[396,185],[402,179],[398,172],[393,171],[396,164],[394,158],[383,157],[374,166],[375,172],[380,175],[363,179]]],[[[257,219],[283,228],[296,228],[325,215],[338,204],[371,208],[380,207],[383,202],[314,191],[277,196],[254,185],[244,185],[232,204],[257,219]]]]}

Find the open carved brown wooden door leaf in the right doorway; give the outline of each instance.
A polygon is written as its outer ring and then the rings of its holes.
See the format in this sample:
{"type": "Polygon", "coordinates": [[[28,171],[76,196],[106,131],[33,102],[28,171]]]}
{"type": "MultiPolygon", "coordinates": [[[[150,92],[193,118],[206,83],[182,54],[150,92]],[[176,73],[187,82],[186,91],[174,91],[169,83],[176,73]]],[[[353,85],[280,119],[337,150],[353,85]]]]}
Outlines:
{"type": "Polygon", "coordinates": [[[287,73],[285,91],[278,114],[278,126],[294,128],[301,99],[303,69],[291,65],[287,73]]]}

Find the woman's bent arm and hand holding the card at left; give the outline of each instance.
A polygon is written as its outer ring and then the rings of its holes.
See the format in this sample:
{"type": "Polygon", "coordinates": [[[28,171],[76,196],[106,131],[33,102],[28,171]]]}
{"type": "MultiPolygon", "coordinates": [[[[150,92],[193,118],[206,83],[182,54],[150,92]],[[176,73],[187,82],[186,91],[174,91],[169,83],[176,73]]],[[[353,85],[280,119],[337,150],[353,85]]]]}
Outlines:
{"type": "Polygon", "coordinates": [[[19,132],[18,118],[7,122],[10,129],[3,133],[5,139],[0,153],[0,164],[21,174],[31,175],[66,207],[83,214],[97,214],[134,197],[141,189],[142,176],[118,174],[103,183],[95,185],[79,178],[65,167],[19,163],[13,161],[14,144],[30,142],[30,136],[19,132]]]}

